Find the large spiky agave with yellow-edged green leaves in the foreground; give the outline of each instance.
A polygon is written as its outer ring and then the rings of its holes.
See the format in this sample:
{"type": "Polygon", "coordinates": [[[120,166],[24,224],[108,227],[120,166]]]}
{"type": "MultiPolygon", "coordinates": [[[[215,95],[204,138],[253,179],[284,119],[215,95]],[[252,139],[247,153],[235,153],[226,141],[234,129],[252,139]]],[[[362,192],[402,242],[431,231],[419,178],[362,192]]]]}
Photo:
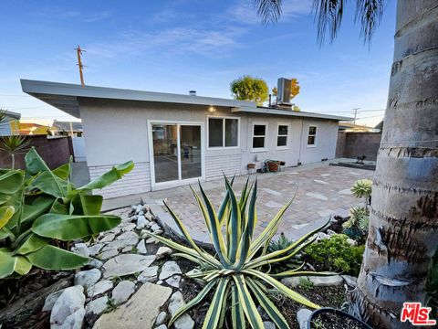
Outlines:
{"type": "Polygon", "coordinates": [[[255,209],[257,182],[255,181],[254,188],[248,188],[248,181],[246,181],[242,194],[237,199],[232,188],[233,181],[230,183],[226,177],[224,181],[226,195],[217,212],[208,196],[205,195],[201,184],[199,188],[203,201],[192,188],[193,196],[203,214],[214,246],[214,256],[196,245],[187,229],[184,228],[182,220],[167,204],[165,207],[183,233],[189,247],[149,233],[151,237],[160,240],[165,245],[181,251],[175,256],[197,263],[199,270],[192,271],[188,275],[205,283],[203,290],[192,301],[173,314],[169,326],[183,313],[202,302],[209,292],[214,292],[213,300],[203,322],[203,328],[222,328],[228,309],[231,312],[231,322],[235,329],[245,328],[246,321],[252,328],[264,328],[262,318],[256,308],[257,303],[265,309],[278,328],[288,328],[286,319],[268,297],[268,287],[273,287],[276,292],[282,292],[287,297],[309,308],[318,309],[319,306],[316,303],[310,302],[304,296],[287,288],[276,278],[332,273],[301,271],[302,266],[297,266],[290,271],[269,275],[268,268],[276,262],[294,257],[301,249],[306,248],[313,242],[314,239],[311,237],[320,228],[309,232],[301,239],[297,239],[285,249],[268,252],[269,242],[275,236],[280,220],[291,201],[282,207],[265,230],[257,238],[254,238],[257,222],[255,209]]]}

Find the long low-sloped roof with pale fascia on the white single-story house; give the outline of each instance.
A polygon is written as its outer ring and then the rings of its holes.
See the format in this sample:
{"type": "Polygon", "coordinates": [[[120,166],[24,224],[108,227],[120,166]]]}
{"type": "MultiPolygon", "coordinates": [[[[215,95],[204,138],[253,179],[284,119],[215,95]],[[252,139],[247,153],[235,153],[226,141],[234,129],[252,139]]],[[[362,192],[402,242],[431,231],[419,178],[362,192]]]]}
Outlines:
{"type": "Polygon", "coordinates": [[[206,106],[212,105],[233,108],[233,111],[290,115],[335,121],[351,120],[350,118],[339,117],[337,115],[257,108],[255,102],[253,101],[235,101],[221,98],[181,95],[165,92],[125,90],[95,86],[82,87],[78,84],[23,79],[21,80],[21,88],[27,94],[34,96],[41,101],[45,101],[57,109],[65,111],[77,118],[80,118],[78,98],[94,98],[125,101],[153,101],[206,106]]]}

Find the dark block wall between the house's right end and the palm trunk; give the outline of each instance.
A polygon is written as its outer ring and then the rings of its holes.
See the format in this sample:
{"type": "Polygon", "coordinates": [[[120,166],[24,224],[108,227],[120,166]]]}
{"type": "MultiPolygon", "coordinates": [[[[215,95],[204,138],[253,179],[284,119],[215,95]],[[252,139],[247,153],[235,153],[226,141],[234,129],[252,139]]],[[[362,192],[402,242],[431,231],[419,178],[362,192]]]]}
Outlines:
{"type": "MultiPolygon", "coordinates": [[[[345,139],[344,145],[339,144],[339,157],[355,158],[366,156],[366,160],[374,161],[381,146],[381,133],[339,133],[345,139]]],[[[342,138],[342,137],[341,137],[342,138]]]]}

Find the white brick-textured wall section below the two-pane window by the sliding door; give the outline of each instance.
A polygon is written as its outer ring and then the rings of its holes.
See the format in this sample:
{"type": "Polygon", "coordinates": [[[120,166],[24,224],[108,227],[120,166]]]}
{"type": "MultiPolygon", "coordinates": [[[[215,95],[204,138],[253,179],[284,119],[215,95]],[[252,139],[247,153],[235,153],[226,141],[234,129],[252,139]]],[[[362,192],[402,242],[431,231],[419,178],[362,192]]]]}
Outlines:
{"type": "Polygon", "coordinates": [[[223,174],[242,174],[242,154],[218,154],[205,157],[205,179],[220,178],[223,174]]]}

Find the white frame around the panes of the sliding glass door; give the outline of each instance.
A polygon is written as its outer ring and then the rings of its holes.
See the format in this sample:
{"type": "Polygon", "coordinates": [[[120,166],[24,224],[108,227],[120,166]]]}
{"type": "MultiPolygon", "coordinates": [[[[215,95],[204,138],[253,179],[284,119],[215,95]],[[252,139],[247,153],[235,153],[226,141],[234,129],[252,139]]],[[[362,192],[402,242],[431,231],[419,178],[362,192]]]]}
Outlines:
{"type": "Polygon", "coordinates": [[[200,180],[205,180],[205,143],[204,143],[204,122],[188,122],[179,120],[148,120],[148,145],[149,145],[149,162],[151,168],[151,190],[158,190],[169,188],[172,186],[184,186],[187,184],[193,184],[200,180]],[[152,124],[175,124],[177,126],[177,154],[178,154],[178,179],[168,182],[155,182],[155,162],[153,158],[153,137],[152,137],[152,124]],[[180,144],[180,128],[182,125],[193,125],[201,127],[201,177],[182,179],[181,175],[181,144],[180,144]]]}

